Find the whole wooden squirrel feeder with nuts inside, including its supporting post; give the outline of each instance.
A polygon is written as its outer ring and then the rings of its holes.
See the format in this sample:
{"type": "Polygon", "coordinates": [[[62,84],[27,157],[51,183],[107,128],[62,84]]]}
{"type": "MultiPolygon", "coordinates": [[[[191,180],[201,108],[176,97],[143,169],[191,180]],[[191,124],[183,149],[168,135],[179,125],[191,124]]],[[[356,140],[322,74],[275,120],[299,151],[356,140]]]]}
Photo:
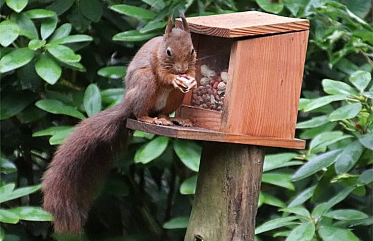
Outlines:
{"type": "Polygon", "coordinates": [[[252,241],[264,159],[259,146],[305,147],[294,135],[309,22],[256,11],[187,20],[198,87],[176,115],[195,127],[135,120],[127,127],[206,141],[185,241],[252,241]]]}

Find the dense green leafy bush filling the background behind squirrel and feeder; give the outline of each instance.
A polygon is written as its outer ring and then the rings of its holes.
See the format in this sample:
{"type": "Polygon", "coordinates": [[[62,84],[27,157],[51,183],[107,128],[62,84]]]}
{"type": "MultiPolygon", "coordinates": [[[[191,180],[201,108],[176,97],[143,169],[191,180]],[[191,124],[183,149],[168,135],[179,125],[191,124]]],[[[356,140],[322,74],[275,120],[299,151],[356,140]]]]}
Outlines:
{"type": "MultiPolygon", "coordinates": [[[[177,9],[310,20],[297,125],[307,149],[268,149],[256,239],[372,240],[371,1],[6,0],[0,7],[0,240],[67,239],[36,222],[51,219],[38,207],[42,172],[79,120],[122,101],[125,66],[177,9]]],[[[183,240],[200,155],[198,142],[135,132],[90,213],[88,238],[183,240]]]]}

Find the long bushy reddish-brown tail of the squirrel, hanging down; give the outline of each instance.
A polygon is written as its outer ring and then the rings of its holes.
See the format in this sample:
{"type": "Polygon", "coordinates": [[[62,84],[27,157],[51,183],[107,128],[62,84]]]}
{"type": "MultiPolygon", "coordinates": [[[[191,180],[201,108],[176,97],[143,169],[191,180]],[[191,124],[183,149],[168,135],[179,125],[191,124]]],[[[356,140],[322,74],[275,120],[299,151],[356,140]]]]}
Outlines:
{"type": "Polygon", "coordinates": [[[56,151],[42,191],[57,233],[82,232],[95,189],[126,145],[130,106],[122,103],[83,120],[56,151]]]}

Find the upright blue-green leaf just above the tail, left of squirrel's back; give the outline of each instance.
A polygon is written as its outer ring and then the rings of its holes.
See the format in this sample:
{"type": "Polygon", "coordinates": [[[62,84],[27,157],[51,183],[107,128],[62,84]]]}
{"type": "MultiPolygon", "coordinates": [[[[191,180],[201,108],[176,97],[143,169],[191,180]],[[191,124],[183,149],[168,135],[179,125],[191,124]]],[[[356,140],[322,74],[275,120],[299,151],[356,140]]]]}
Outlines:
{"type": "Polygon", "coordinates": [[[84,108],[87,115],[91,117],[93,114],[101,110],[101,94],[100,89],[96,84],[90,84],[84,92],[83,98],[84,108]]]}

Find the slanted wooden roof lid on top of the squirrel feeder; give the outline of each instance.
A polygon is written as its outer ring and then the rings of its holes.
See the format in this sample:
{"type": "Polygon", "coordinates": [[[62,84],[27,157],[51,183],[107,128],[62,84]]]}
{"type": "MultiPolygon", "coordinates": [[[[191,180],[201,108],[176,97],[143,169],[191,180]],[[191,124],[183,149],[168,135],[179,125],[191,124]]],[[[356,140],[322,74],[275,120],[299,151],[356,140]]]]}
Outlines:
{"type": "MultiPolygon", "coordinates": [[[[306,19],[288,18],[257,11],[189,17],[187,21],[192,33],[229,38],[309,29],[309,21],[306,19]]],[[[175,25],[180,27],[181,20],[176,19],[175,25]]]]}

